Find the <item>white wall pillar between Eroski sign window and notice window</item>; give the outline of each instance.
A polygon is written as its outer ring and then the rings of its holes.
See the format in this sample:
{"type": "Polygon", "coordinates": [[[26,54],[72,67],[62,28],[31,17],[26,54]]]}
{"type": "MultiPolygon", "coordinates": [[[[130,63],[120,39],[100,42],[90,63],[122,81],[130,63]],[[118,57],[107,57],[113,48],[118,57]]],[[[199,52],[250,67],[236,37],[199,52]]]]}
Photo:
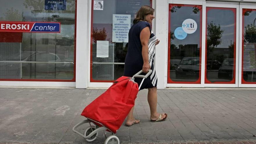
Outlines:
{"type": "Polygon", "coordinates": [[[90,1],[77,0],[76,88],[88,87],[89,6],[90,1]]]}

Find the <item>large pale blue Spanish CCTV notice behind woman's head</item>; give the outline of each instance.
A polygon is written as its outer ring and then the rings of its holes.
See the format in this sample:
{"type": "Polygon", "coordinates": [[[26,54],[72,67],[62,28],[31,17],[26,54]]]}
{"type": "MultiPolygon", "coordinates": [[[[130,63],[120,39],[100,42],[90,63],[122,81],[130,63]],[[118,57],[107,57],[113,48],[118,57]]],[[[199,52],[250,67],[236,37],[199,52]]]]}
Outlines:
{"type": "Polygon", "coordinates": [[[113,15],[112,42],[128,42],[131,15],[113,15]]]}

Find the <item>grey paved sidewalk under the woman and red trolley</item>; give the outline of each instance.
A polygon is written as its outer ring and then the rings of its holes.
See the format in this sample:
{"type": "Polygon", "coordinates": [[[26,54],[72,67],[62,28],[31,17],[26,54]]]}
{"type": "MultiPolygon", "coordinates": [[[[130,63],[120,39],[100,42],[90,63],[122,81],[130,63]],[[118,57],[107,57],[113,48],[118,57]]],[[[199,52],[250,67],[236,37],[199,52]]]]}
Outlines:
{"type": "MultiPolygon", "coordinates": [[[[85,120],[82,110],[106,89],[0,88],[0,144],[99,144],[72,131],[85,120]]],[[[256,144],[256,88],[167,88],[158,90],[159,113],[150,122],[147,90],[138,93],[134,116],[141,122],[122,125],[120,143],[256,144]]],[[[83,131],[88,124],[79,127],[83,131]]],[[[107,136],[111,133],[107,132],[107,136]]]]}

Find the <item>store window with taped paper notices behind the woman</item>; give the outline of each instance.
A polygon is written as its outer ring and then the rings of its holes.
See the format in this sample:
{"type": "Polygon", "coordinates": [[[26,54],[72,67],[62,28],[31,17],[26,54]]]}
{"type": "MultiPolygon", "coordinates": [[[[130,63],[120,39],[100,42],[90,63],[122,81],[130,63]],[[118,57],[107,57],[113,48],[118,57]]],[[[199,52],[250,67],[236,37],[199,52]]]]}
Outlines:
{"type": "Polygon", "coordinates": [[[144,5],[152,6],[152,0],[92,0],[90,82],[123,75],[128,32],[144,5]]]}

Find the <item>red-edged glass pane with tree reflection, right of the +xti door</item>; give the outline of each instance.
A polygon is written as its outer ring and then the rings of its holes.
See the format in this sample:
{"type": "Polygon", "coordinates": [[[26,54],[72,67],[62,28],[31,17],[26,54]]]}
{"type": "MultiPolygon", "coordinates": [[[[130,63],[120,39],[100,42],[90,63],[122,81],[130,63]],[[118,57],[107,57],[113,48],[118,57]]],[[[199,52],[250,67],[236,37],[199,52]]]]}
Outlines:
{"type": "Polygon", "coordinates": [[[207,7],[205,83],[235,83],[235,13],[235,8],[207,7]]]}

